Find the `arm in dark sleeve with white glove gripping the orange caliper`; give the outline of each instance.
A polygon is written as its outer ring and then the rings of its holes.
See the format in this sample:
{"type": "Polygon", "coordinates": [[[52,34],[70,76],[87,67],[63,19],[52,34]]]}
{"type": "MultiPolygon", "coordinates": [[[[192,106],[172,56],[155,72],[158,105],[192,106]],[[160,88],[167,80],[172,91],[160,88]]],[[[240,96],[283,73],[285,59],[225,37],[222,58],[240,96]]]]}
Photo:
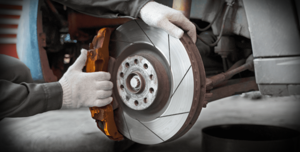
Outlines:
{"type": "Polygon", "coordinates": [[[75,63],[58,82],[20,83],[0,80],[0,120],[27,117],[49,110],[102,107],[112,102],[113,83],[108,72],[82,72],[87,60],[82,49],[75,63]]]}

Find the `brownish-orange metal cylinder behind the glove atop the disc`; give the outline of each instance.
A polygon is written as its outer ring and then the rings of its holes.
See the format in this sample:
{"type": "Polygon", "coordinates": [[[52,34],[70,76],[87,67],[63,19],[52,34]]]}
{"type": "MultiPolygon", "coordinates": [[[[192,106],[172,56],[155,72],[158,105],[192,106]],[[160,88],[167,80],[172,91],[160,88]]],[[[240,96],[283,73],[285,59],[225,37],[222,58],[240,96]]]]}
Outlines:
{"type": "Polygon", "coordinates": [[[191,4],[192,0],[173,0],[173,9],[179,10],[187,19],[190,19],[191,4]]]}

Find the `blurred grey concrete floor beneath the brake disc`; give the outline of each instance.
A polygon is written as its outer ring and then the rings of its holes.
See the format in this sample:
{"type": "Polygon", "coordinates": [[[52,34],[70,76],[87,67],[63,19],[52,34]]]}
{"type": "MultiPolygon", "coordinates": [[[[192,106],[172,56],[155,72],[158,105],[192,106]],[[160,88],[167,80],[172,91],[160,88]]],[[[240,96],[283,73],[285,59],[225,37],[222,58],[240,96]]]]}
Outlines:
{"type": "Polygon", "coordinates": [[[88,108],[55,110],[0,121],[1,151],[200,151],[201,129],[219,124],[264,124],[300,132],[300,98],[223,98],[203,108],[196,124],[181,138],[157,145],[114,142],[96,126],[88,108]],[[129,149],[128,149],[129,147],[129,149]]]}

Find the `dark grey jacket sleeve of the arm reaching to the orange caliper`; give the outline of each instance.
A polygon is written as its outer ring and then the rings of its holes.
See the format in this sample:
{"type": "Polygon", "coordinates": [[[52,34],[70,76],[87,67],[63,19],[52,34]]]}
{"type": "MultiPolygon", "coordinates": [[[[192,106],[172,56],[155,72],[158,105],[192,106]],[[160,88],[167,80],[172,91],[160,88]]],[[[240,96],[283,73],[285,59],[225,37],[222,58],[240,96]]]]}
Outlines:
{"type": "Polygon", "coordinates": [[[0,80],[0,120],[58,110],[61,105],[62,88],[58,82],[16,84],[0,80]]]}

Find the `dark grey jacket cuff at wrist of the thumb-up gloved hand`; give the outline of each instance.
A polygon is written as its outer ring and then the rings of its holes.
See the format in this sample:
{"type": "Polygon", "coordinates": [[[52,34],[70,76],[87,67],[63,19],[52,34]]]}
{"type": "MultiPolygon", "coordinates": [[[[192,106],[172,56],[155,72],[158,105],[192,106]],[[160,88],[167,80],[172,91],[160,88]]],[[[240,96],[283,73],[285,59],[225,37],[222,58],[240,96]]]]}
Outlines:
{"type": "Polygon", "coordinates": [[[62,106],[62,95],[63,91],[59,82],[43,83],[41,84],[45,95],[47,107],[46,111],[58,110],[62,106]]]}

